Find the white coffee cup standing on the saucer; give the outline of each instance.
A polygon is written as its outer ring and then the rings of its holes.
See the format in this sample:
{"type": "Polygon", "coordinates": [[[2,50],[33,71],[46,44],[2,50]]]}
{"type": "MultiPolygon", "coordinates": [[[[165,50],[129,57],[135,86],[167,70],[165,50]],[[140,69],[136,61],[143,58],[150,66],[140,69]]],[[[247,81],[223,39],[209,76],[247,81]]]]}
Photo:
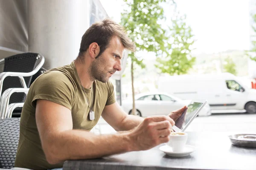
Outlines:
{"type": "Polygon", "coordinates": [[[167,144],[172,147],[172,151],[182,152],[188,140],[188,134],[184,132],[172,132],[169,137],[170,140],[167,144]]]}

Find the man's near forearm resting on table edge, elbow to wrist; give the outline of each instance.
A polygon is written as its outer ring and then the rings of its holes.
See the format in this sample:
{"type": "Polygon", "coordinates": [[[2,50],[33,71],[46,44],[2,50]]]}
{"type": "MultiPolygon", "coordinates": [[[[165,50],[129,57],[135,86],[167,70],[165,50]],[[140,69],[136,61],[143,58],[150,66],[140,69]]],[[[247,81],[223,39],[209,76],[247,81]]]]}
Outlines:
{"type": "Polygon", "coordinates": [[[85,130],[67,130],[57,136],[48,136],[42,144],[47,161],[56,164],[68,159],[93,159],[132,151],[132,142],[128,136],[129,132],[94,135],[85,130]]]}

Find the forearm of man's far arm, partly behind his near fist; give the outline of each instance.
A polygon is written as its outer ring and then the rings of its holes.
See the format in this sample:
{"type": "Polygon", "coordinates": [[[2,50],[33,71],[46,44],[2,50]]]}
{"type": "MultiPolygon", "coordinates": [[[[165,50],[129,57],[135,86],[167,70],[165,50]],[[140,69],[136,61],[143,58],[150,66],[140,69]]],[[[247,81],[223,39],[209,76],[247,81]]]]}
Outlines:
{"type": "Polygon", "coordinates": [[[119,130],[127,131],[131,130],[134,127],[140,125],[143,122],[144,118],[140,116],[127,115],[125,119],[123,119],[122,123],[120,123],[119,130]]]}

